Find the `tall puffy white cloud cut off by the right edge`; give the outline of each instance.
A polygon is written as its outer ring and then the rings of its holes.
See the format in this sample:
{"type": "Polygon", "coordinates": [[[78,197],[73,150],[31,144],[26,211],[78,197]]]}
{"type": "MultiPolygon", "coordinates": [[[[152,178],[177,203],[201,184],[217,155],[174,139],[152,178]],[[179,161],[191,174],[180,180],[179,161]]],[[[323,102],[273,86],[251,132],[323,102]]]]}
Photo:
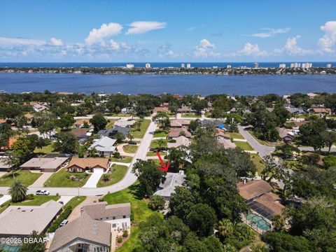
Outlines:
{"type": "Polygon", "coordinates": [[[321,52],[335,52],[332,48],[336,43],[336,21],[325,22],[325,25],[320,27],[324,31],[324,36],[318,39],[318,46],[321,52]]]}

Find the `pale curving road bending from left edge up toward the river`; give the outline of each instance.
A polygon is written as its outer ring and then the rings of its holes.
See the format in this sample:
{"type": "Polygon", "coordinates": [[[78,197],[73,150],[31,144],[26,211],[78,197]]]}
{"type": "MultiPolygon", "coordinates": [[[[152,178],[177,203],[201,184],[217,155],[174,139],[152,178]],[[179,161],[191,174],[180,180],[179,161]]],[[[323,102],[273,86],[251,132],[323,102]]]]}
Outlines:
{"type": "MultiPolygon", "coordinates": [[[[153,122],[148,126],[146,134],[142,139],[137,153],[135,153],[134,158],[131,162],[130,167],[127,170],[125,178],[118,183],[111,186],[106,186],[103,188],[41,188],[41,187],[30,187],[28,188],[28,193],[35,193],[36,190],[49,190],[50,195],[56,195],[57,193],[62,196],[76,196],[76,195],[106,195],[106,193],[115,193],[129,186],[132,186],[135,181],[137,181],[137,176],[132,173],[132,167],[137,160],[145,160],[149,147],[151,146],[151,141],[153,139],[153,132],[155,132],[157,125],[153,122]]],[[[125,164],[124,164],[125,165],[125,164]]],[[[8,192],[8,187],[0,187],[0,193],[6,195],[8,192]]]]}

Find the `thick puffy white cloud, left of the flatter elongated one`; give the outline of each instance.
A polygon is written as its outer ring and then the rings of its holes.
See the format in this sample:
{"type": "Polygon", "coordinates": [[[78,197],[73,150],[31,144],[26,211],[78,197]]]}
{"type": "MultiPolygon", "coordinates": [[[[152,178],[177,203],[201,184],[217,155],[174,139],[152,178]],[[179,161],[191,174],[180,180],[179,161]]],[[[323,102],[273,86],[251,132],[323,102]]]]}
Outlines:
{"type": "Polygon", "coordinates": [[[92,29],[89,36],[85,38],[85,42],[88,45],[94,43],[104,43],[104,38],[108,38],[113,35],[120,34],[123,26],[118,23],[109,23],[109,25],[103,24],[99,29],[92,29]]]}

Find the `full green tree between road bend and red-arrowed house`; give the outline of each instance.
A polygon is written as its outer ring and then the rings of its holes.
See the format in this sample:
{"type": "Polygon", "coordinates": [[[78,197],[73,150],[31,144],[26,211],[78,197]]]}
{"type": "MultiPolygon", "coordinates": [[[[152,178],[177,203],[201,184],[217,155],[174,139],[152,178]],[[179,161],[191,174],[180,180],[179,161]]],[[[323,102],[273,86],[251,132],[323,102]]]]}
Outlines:
{"type": "Polygon", "coordinates": [[[140,181],[141,193],[144,196],[151,196],[161,183],[164,172],[158,169],[153,160],[138,160],[132,171],[140,181]]]}

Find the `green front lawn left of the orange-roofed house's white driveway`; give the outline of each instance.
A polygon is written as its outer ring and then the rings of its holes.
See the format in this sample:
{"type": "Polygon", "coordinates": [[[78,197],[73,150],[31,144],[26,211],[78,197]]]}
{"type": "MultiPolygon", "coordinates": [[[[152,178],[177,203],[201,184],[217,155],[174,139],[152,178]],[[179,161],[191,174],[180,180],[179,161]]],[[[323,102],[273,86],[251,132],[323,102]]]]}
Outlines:
{"type": "Polygon", "coordinates": [[[48,181],[45,181],[45,187],[82,187],[85,185],[87,179],[90,178],[90,174],[85,172],[66,172],[66,169],[60,169],[59,172],[55,172],[50,176],[48,181]],[[81,181],[73,181],[69,179],[69,176],[76,176],[81,181]]]}

